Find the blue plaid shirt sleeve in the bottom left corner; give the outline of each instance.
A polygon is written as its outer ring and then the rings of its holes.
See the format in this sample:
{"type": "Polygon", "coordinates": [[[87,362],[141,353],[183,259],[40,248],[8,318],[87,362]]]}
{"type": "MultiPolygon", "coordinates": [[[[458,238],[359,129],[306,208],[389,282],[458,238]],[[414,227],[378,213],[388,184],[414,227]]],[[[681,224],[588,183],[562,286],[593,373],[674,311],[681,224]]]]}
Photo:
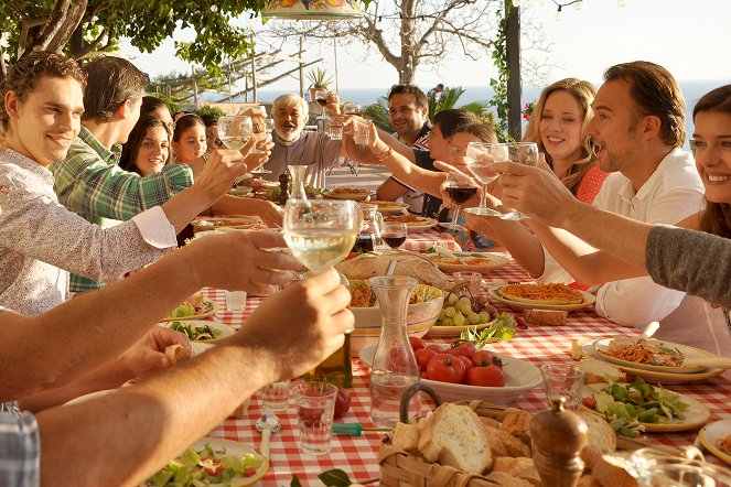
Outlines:
{"type": "Polygon", "coordinates": [[[41,485],[41,435],[35,416],[0,402],[0,485],[41,485]]]}

